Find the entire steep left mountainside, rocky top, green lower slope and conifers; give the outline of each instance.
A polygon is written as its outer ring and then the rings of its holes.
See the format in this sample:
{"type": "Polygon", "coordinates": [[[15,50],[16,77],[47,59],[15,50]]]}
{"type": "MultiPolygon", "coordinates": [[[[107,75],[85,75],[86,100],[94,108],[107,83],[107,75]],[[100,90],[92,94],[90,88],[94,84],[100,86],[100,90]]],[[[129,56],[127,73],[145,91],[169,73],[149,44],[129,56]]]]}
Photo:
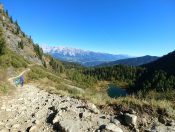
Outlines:
{"type": "Polygon", "coordinates": [[[43,65],[59,72],[63,71],[62,63],[44,54],[42,48],[33,42],[31,36],[21,30],[18,22],[9,16],[8,11],[4,11],[1,4],[0,37],[3,40],[0,49],[4,52],[4,54],[0,54],[0,67],[27,67],[31,63],[43,65]]]}

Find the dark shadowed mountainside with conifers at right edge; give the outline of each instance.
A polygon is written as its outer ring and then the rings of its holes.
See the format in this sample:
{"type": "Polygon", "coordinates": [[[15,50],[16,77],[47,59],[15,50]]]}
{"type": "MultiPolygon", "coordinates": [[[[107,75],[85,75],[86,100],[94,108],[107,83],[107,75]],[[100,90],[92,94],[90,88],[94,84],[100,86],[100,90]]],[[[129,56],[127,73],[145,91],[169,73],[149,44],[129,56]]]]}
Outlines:
{"type": "Polygon", "coordinates": [[[135,82],[134,91],[156,90],[159,92],[175,90],[175,51],[157,61],[143,65],[144,73],[135,82]]]}

